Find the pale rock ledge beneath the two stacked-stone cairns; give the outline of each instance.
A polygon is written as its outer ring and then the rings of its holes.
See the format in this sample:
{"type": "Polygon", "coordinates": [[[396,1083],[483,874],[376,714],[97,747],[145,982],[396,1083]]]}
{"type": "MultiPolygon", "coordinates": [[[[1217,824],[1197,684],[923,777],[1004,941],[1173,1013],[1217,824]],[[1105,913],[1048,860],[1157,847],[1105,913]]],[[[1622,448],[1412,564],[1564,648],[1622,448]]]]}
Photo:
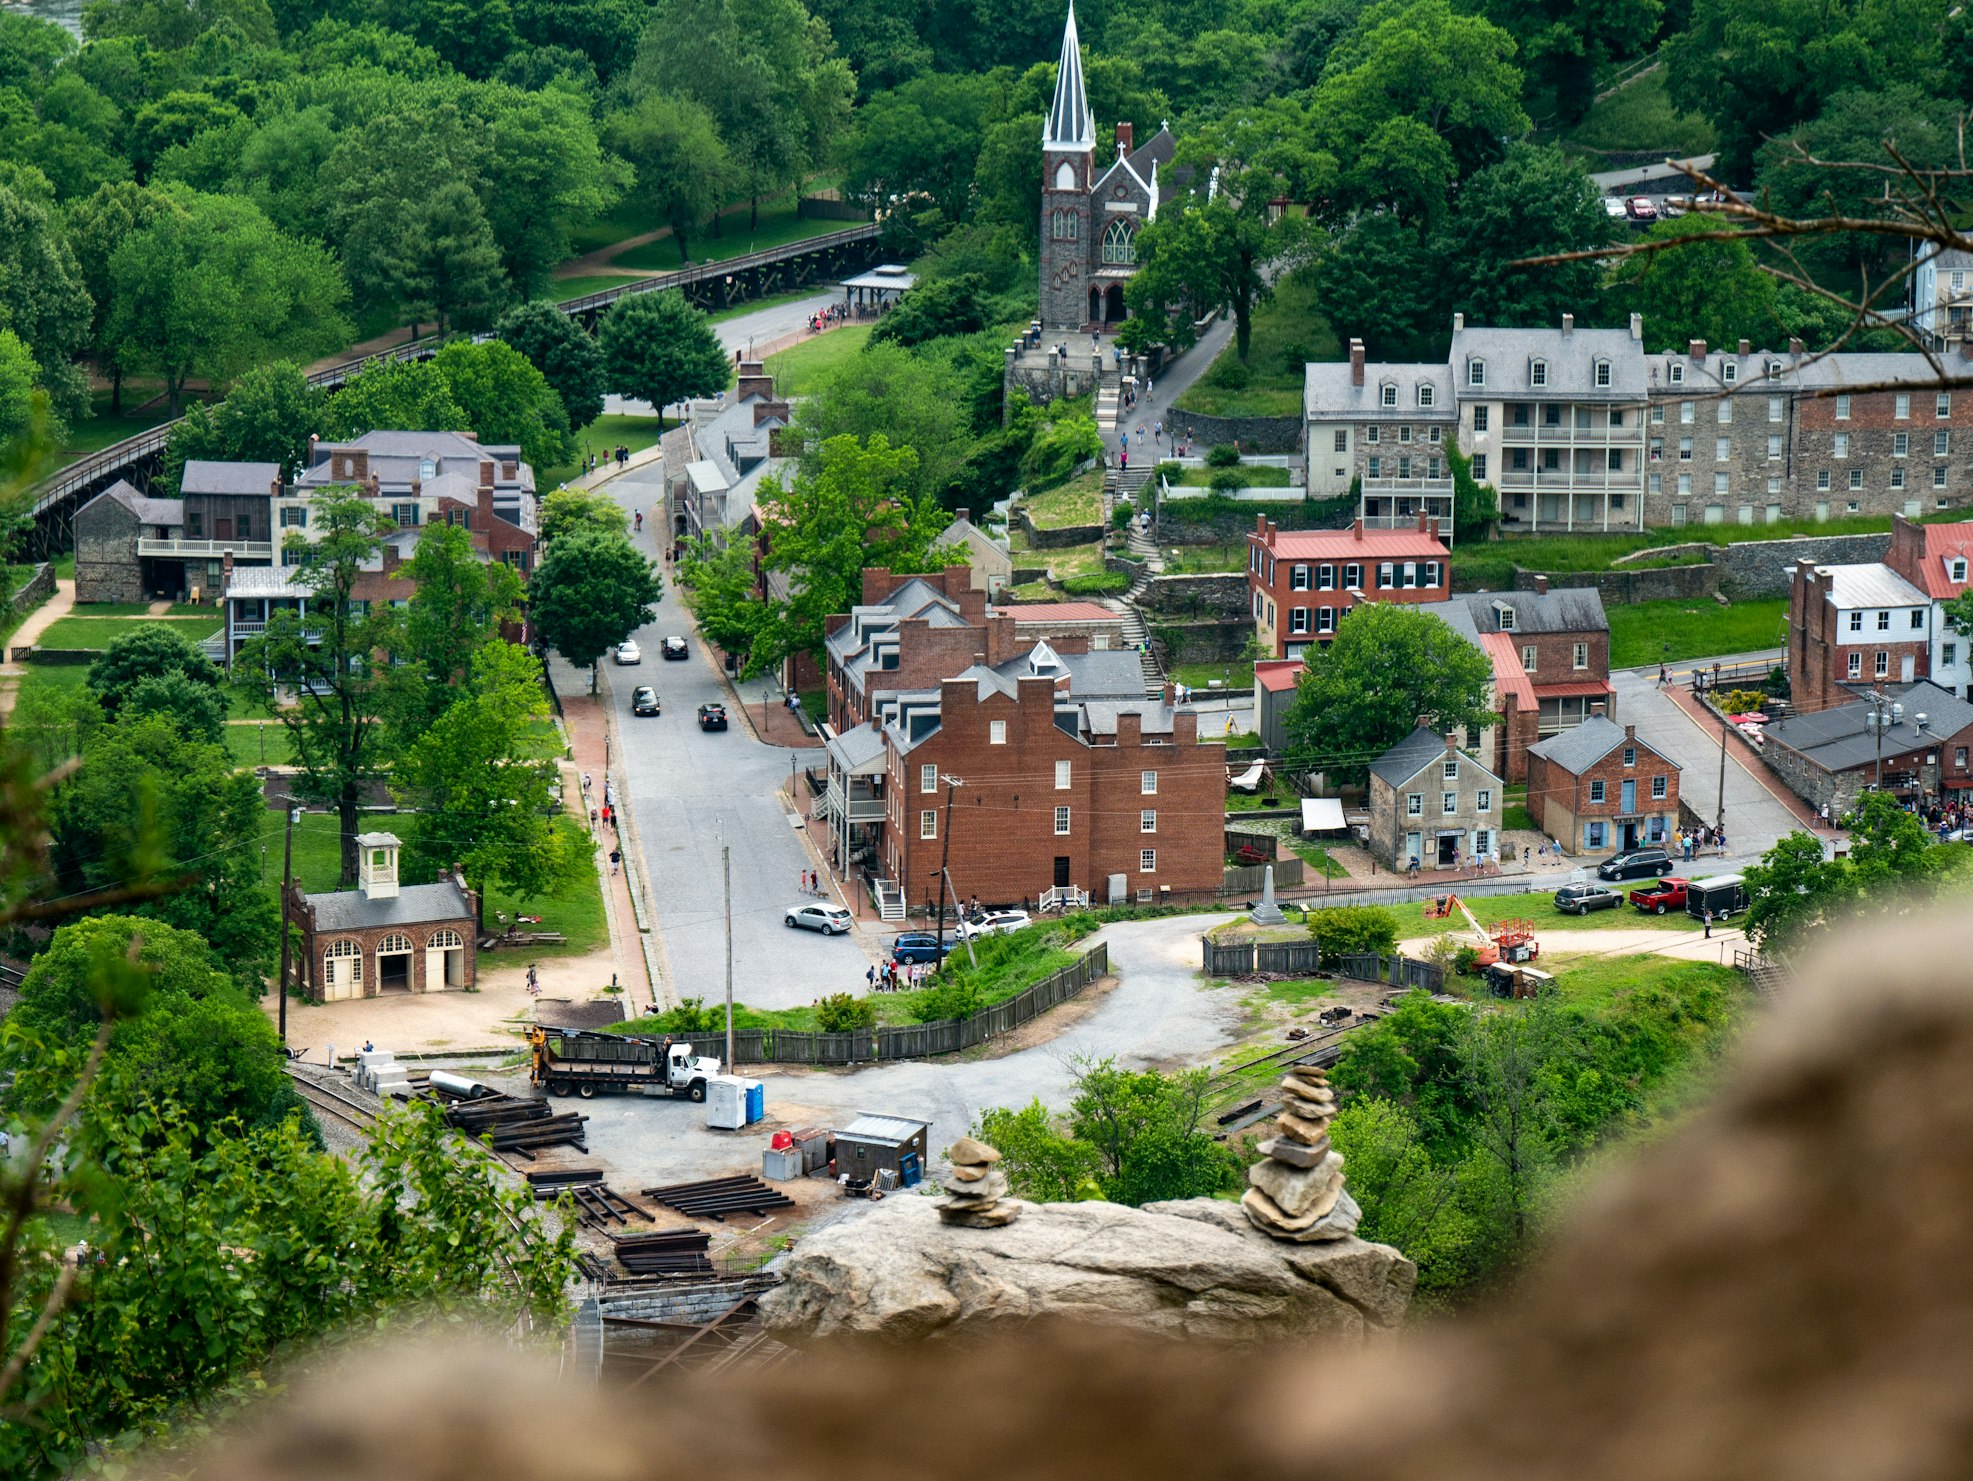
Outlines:
{"type": "Polygon", "coordinates": [[[1269,1238],[1237,1203],[1018,1203],[1020,1223],[943,1223],[894,1195],[793,1248],[762,1321],[783,1341],[921,1339],[1044,1317],[1172,1337],[1363,1339],[1395,1327],[1417,1266],[1344,1236],[1269,1238]]]}

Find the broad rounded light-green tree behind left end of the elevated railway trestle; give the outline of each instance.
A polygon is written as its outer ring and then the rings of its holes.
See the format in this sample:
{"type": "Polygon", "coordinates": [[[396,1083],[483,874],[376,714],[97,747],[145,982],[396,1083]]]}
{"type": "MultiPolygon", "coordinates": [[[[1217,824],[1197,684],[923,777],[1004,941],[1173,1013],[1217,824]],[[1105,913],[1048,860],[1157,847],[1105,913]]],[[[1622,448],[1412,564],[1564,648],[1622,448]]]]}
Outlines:
{"type": "Polygon", "coordinates": [[[187,193],[180,205],[110,256],[105,331],[120,365],[164,379],[174,410],[191,377],[223,383],[266,355],[349,343],[349,290],[324,248],[235,197],[187,193]]]}

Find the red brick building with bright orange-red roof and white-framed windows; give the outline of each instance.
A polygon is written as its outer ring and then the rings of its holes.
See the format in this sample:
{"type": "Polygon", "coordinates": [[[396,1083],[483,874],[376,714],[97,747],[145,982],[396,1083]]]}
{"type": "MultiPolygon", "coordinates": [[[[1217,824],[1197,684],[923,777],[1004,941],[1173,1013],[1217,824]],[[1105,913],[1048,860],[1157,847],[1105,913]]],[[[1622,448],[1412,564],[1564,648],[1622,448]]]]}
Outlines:
{"type": "Polygon", "coordinates": [[[1438,521],[1419,515],[1417,529],[1280,530],[1257,517],[1247,536],[1247,592],[1261,649],[1298,659],[1310,643],[1328,643],[1357,601],[1444,601],[1452,568],[1438,521]]]}

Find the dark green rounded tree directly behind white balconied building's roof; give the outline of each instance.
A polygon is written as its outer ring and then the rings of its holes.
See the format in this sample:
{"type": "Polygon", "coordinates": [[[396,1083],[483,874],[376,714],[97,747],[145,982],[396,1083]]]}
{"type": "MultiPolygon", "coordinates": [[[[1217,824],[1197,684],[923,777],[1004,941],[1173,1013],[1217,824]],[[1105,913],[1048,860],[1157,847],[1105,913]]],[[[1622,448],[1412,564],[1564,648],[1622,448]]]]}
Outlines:
{"type": "Polygon", "coordinates": [[[1594,304],[1594,258],[1515,266],[1541,254],[1588,252],[1610,241],[1602,195],[1559,148],[1515,144],[1507,158],[1460,185],[1438,252],[1452,308],[1474,323],[1559,323],[1594,304]]]}

